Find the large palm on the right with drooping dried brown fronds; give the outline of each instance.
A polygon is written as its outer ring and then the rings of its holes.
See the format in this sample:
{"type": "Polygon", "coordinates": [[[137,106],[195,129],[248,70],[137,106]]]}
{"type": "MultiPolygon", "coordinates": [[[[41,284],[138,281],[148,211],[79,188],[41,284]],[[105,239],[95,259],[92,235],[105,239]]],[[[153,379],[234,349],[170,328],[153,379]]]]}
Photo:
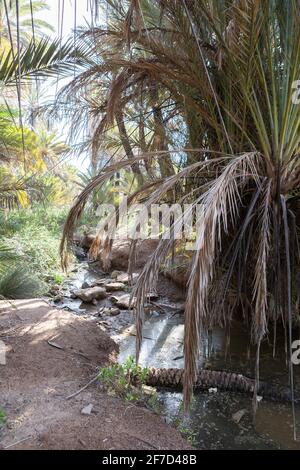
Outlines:
{"type": "MultiPolygon", "coordinates": [[[[185,197],[204,207],[185,311],[188,404],[201,331],[216,324],[230,329],[233,313],[243,312],[250,325],[257,358],[272,324],[276,342],[279,320],[285,325],[291,353],[300,276],[300,106],[293,102],[294,82],[300,77],[298,2],[106,3],[114,21],[106,30],[87,33],[98,38],[101,61],[77,82],[79,86],[91,79],[101,94],[101,74],[109,80],[96,137],[101,135],[103,119],[111,123],[117,109],[135,103],[142,83],[156,80],[176,102],[192,151],[186,151],[187,166],[166,176],[163,184],[152,183],[147,205],[162,200],[181,182],[185,197]],[[196,176],[192,188],[189,176],[196,176]]],[[[167,150],[159,156],[166,154],[167,150]]],[[[150,157],[155,154],[144,158],[150,157]]],[[[138,159],[106,168],[79,195],[66,221],[63,256],[89,194],[117,168],[138,159]]],[[[134,290],[138,352],[145,296],[173,245],[172,239],[161,241],[134,290]]],[[[257,383],[258,366],[257,359],[257,383]]],[[[290,376],[292,381],[292,364],[290,376]]]]}

